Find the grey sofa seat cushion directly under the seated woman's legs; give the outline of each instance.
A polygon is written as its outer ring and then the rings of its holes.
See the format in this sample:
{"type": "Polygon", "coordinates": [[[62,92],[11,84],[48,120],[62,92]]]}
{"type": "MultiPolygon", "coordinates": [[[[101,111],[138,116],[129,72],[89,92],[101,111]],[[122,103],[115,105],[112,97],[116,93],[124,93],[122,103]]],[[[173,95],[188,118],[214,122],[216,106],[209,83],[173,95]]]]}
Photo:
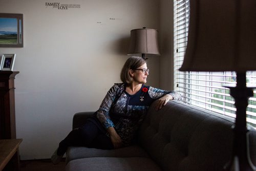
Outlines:
{"type": "Polygon", "coordinates": [[[90,157],[148,157],[143,148],[133,145],[118,149],[97,149],[87,147],[69,147],[66,163],[71,160],[90,157]]]}

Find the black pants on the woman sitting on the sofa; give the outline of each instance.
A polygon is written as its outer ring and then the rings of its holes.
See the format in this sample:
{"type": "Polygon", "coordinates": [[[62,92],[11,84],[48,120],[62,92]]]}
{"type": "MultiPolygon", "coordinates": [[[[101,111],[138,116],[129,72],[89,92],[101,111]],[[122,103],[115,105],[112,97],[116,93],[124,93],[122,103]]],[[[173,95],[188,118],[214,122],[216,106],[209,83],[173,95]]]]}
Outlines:
{"type": "Polygon", "coordinates": [[[100,149],[113,149],[110,137],[106,136],[99,127],[88,120],[83,126],[72,130],[69,135],[59,143],[57,155],[66,153],[69,146],[86,146],[100,149]]]}

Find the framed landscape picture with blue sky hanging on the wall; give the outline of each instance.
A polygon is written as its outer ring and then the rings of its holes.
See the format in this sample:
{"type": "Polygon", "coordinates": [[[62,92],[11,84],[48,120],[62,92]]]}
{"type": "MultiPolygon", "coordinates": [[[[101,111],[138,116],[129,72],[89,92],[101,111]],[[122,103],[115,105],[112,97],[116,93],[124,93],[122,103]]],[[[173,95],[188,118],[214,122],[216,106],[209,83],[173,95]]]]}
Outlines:
{"type": "Polygon", "coordinates": [[[23,47],[23,14],[0,13],[0,47],[23,47]]]}

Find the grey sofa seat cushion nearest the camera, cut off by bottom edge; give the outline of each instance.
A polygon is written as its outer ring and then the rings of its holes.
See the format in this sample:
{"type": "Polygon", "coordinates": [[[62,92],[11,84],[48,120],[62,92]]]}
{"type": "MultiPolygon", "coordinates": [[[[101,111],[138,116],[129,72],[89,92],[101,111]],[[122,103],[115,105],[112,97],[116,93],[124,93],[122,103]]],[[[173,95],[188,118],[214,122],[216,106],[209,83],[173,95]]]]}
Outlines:
{"type": "Polygon", "coordinates": [[[66,171],[150,171],[161,170],[150,158],[145,157],[94,157],[83,158],[70,161],[66,166],[66,171]]]}

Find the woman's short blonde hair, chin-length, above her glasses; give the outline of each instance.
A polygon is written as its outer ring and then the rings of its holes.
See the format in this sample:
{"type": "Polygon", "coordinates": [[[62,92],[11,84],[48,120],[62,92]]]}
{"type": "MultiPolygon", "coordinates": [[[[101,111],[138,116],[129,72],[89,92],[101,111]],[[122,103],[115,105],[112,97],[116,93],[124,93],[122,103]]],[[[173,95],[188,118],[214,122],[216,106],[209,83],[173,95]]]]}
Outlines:
{"type": "Polygon", "coordinates": [[[121,81],[127,84],[132,83],[133,78],[129,74],[129,71],[139,68],[140,66],[144,65],[144,63],[146,63],[146,60],[142,57],[132,56],[128,58],[120,73],[121,81]]]}

